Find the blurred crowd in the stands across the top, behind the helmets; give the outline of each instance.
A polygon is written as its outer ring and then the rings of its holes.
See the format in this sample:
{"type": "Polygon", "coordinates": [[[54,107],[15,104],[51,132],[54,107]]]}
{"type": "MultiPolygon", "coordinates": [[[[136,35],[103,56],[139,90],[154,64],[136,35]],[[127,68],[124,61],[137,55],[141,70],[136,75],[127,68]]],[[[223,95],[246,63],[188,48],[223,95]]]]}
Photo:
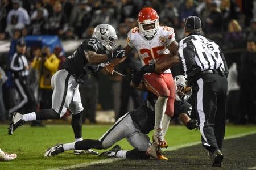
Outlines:
{"type": "Polygon", "coordinates": [[[0,39],[41,34],[81,39],[90,37],[100,23],[113,25],[118,36],[125,38],[137,26],[139,10],[150,6],[158,12],[161,24],[175,28],[178,41],[184,36],[184,19],[190,15],[201,18],[205,34],[225,41],[240,41],[256,15],[254,3],[253,0],[1,0],[0,39]]]}

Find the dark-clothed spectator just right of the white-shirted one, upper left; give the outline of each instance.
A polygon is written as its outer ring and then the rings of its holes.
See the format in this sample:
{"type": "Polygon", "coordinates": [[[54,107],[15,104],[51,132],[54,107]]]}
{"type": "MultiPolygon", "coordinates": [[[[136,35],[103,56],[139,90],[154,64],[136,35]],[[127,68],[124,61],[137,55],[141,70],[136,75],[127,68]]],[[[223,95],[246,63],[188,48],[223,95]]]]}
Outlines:
{"type": "Polygon", "coordinates": [[[47,19],[43,16],[43,10],[36,10],[36,17],[31,20],[31,34],[42,35],[46,34],[47,19]]]}

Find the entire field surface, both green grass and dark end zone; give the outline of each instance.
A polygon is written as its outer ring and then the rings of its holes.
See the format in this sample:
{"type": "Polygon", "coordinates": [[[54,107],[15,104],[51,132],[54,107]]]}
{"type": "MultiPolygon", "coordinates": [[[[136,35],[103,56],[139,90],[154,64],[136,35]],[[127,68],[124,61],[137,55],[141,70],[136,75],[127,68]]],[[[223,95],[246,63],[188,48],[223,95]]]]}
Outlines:
{"type": "MultiPolygon", "coordinates": [[[[84,125],[82,129],[83,138],[100,138],[110,126],[111,125],[84,125]]],[[[255,125],[228,125],[226,127],[225,136],[229,137],[250,132],[256,133],[255,125]]],[[[198,130],[187,130],[184,126],[170,126],[166,140],[171,147],[185,143],[199,142],[200,132],[198,130]]],[[[225,164],[222,168],[241,169],[243,167],[247,169],[247,167],[255,167],[255,141],[256,135],[225,141],[223,152],[226,154],[224,158],[226,162],[224,162],[225,164]]],[[[105,159],[93,155],[76,156],[72,154],[72,151],[57,155],[54,158],[44,158],[44,152],[48,147],[56,143],[67,142],[73,142],[73,130],[69,125],[47,125],[46,128],[31,128],[25,125],[18,128],[11,136],[7,135],[7,125],[0,125],[0,148],[3,151],[18,155],[18,158],[13,162],[0,162],[0,169],[55,169],[105,159]]],[[[118,144],[125,150],[133,148],[125,139],[118,142],[118,144]]],[[[207,152],[200,145],[181,148],[175,151],[166,151],[164,155],[170,158],[170,160],[167,162],[159,162],[159,160],[154,159],[139,162],[134,160],[119,160],[118,162],[109,164],[92,165],[90,167],[80,167],[76,169],[160,169],[159,165],[161,165],[161,169],[211,168],[209,166],[207,152]]]]}

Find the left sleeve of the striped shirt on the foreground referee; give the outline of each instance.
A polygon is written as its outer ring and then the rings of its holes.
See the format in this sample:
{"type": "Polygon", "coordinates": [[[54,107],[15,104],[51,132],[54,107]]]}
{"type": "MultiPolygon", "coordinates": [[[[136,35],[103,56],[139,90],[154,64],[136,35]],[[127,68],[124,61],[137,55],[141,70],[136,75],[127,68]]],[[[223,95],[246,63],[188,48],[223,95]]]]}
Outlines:
{"type": "Polygon", "coordinates": [[[183,65],[185,76],[187,76],[187,84],[188,86],[192,86],[195,76],[201,71],[195,61],[196,52],[193,45],[188,41],[181,40],[179,44],[179,57],[183,65]]]}

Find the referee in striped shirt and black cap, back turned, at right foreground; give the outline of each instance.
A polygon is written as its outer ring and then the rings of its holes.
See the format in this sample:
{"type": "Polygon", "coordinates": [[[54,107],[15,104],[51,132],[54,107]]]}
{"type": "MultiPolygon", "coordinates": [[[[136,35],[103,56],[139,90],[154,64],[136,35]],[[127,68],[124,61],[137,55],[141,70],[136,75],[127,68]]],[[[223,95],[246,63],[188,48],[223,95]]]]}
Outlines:
{"type": "Polygon", "coordinates": [[[186,88],[192,88],[195,96],[202,144],[209,151],[212,166],[221,167],[228,67],[220,47],[200,35],[200,18],[189,16],[184,31],[187,37],[179,43],[179,57],[187,76],[186,88]]]}

